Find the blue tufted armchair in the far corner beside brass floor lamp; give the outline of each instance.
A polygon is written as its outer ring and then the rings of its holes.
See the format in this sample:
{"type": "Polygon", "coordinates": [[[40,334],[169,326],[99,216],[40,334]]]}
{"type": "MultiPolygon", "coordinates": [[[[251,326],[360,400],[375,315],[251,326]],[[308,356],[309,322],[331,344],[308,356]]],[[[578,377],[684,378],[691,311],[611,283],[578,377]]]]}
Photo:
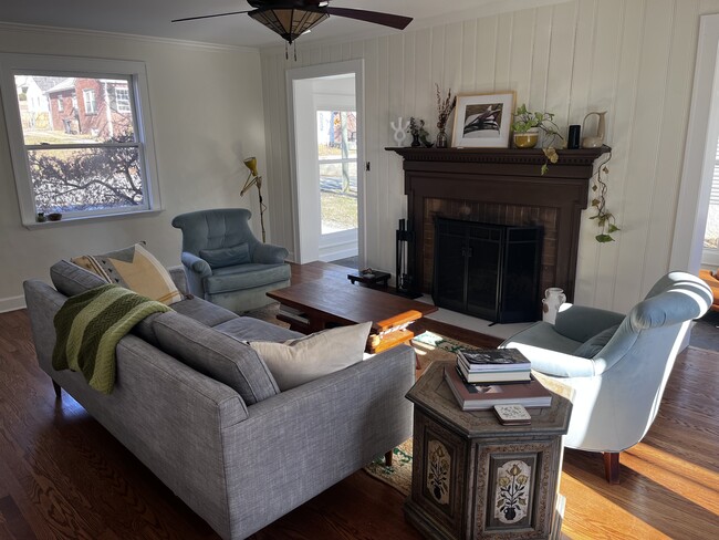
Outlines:
{"type": "Polygon", "coordinates": [[[236,313],[262,308],[265,293],[290,284],[288,250],[260,242],[250,230],[252,214],[223,208],[181,214],[181,261],[189,292],[236,313]]]}

